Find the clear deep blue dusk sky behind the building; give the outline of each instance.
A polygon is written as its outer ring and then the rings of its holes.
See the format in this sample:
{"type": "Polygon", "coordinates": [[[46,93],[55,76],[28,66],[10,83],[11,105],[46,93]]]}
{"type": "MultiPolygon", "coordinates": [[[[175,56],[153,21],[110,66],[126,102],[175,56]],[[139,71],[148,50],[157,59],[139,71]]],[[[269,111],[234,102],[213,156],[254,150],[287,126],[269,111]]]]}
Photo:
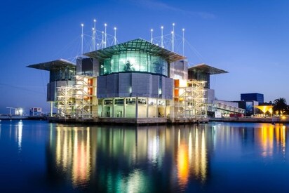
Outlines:
{"type": "MultiPolygon", "coordinates": [[[[201,62],[224,69],[211,76],[220,100],[240,100],[241,93],[263,93],[265,102],[289,102],[289,1],[109,0],[4,1],[0,7],[0,113],[6,107],[42,107],[49,73],[27,68],[81,53],[84,34],[96,28],[114,34],[119,43],[184,31],[189,65],[201,62]]],[[[87,37],[86,37],[87,38],[87,37]]],[[[89,41],[86,39],[86,42],[89,41]]],[[[85,52],[89,48],[84,48],[85,52]]],[[[182,52],[180,52],[182,53],[182,52]]]]}

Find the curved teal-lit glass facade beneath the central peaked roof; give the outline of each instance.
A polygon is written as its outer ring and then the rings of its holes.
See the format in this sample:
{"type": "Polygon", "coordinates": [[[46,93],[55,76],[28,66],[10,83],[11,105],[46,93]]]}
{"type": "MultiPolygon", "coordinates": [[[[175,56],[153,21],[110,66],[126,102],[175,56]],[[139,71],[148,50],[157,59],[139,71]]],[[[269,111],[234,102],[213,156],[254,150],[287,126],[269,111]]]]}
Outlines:
{"type": "Polygon", "coordinates": [[[168,62],[159,55],[142,51],[115,53],[100,61],[100,75],[118,72],[148,72],[168,76],[168,62]]]}

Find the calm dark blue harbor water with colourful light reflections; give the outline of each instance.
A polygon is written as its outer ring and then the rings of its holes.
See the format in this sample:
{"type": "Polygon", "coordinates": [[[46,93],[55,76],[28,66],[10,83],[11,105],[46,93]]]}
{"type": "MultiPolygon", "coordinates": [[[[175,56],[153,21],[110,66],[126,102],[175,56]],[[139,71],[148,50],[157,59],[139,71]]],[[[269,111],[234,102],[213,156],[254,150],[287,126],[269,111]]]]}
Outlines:
{"type": "Polygon", "coordinates": [[[0,192],[288,192],[288,132],[0,121],[0,192]]]}

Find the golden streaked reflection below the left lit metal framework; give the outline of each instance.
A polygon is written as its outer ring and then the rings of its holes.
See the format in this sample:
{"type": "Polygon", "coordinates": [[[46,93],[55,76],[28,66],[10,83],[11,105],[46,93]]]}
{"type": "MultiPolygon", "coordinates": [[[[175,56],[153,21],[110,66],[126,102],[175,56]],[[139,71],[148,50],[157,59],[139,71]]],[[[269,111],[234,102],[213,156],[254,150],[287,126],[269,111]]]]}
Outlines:
{"type": "Polygon", "coordinates": [[[55,164],[71,172],[75,187],[86,185],[90,176],[90,128],[56,128],[55,164]]]}

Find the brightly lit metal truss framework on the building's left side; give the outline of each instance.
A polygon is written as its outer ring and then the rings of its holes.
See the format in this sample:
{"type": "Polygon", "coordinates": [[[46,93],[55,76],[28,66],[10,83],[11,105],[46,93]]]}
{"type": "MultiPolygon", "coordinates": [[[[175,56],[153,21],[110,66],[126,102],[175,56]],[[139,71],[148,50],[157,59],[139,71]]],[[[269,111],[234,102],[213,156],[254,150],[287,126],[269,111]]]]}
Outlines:
{"type": "Polygon", "coordinates": [[[76,76],[73,86],[61,86],[57,91],[58,116],[65,118],[92,119],[96,114],[93,107],[96,106],[96,86],[93,85],[93,77],[76,76]]]}

